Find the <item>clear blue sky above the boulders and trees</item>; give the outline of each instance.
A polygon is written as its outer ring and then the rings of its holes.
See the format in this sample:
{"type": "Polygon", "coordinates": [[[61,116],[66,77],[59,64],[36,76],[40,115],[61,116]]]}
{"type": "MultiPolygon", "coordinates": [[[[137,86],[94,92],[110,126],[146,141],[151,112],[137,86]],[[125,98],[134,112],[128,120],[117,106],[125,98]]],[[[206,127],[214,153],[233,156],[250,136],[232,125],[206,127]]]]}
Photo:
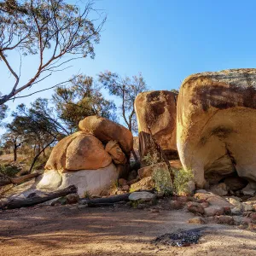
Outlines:
{"type": "MultiPolygon", "coordinates": [[[[74,61],[72,68],[29,92],[79,71],[93,77],[104,70],[128,76],[141,72],[151,90],[171,90],[192,73],[256,67],[256,1],[98,0],[96,8],[108,20],[95,60],[74,61]]],[[[9,60],[18,63],[20,56],[9,60]]],[[[24,62],[25,78],[33,64],[32,59],[24,62]]],[[[0,77],[0,91],[8,92],[11,79],[1,63],[0,77]]],[[[51,93],[9,102],[9,108],[51,93]]]]}

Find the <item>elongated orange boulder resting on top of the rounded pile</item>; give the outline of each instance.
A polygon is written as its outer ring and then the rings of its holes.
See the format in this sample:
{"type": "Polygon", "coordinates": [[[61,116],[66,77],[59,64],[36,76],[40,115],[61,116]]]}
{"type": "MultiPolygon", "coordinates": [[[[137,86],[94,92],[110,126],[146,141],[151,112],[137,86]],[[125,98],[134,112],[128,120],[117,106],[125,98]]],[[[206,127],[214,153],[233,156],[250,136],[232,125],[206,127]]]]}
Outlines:
{"type": "Polygon", "coordinates": [[[79,122],[79,129],[90,132],[102,141],[102,143],[116,141],[125,154],[130,155],[131,153],[133,148],[132,133],[123,125],[96,115],[91,115],[79,122]]]}

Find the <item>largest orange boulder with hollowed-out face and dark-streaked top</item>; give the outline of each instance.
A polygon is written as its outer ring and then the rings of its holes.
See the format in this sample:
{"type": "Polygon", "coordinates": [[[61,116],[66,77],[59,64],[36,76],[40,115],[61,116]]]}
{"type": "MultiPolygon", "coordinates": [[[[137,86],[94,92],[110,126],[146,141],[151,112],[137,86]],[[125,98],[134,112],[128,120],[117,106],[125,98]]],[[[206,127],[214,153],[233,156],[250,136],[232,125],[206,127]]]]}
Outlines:
{"type": "Polygon", "coordinates": [[[177,99],[177,149],[195,182],[247,179],[256,189],[256,69],[198,73],[177,99]]]}

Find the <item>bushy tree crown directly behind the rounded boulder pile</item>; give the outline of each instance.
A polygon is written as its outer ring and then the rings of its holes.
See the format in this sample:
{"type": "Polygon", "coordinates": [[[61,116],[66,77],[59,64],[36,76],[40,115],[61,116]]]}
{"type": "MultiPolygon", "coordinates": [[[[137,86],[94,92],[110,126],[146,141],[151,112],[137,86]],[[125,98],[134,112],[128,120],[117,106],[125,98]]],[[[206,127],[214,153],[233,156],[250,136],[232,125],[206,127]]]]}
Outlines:
{"type": "Polygon", "coordinates": [[[115,104],[107,100],[91,77],[79,75],[67,87],[58,87],[53,96],[59,119],[70,131],[76,131],[79,121],[90,115],[117,120],[115,104]]]}

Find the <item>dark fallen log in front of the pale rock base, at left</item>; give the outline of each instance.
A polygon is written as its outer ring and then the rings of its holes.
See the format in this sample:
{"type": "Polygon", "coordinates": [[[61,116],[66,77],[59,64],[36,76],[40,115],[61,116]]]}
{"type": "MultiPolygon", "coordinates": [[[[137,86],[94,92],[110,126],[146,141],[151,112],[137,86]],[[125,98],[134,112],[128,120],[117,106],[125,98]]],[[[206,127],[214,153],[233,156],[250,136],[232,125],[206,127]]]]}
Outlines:
{"type": "Polygon", "coordinates": [[[3,201],[3,204],[0,205],[0,209],[15,209],[20,207],[32,207],[34,205],[43,203],[45,201],[50,201],[52,199],[77,193],[77,188],[74,185],[71,185],[65,189],[56,190],[55,192],[51,192],[45,194],[43,196],[33,195],[26,197],[25,199],[13,199],[10,201],[3,201]]]}

